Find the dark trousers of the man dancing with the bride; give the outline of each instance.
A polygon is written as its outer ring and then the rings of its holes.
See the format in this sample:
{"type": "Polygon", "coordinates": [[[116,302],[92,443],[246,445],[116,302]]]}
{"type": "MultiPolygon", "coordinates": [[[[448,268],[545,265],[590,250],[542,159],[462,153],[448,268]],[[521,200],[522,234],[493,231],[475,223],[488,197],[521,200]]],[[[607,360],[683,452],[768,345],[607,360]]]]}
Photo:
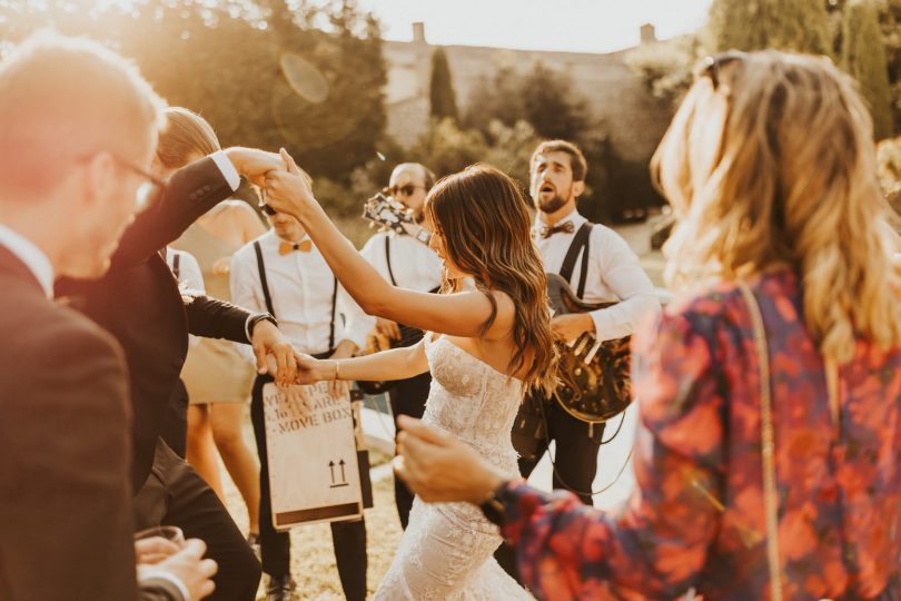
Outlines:
{"type": "Polygon", "coordinates": [[[186,539],[207,543],[216,560],[215,601],[254,601],[260,566],[228,510],[197,472],[159,440],[154,467],[135,495],[135,529],[176,525],[186,539]]]}

